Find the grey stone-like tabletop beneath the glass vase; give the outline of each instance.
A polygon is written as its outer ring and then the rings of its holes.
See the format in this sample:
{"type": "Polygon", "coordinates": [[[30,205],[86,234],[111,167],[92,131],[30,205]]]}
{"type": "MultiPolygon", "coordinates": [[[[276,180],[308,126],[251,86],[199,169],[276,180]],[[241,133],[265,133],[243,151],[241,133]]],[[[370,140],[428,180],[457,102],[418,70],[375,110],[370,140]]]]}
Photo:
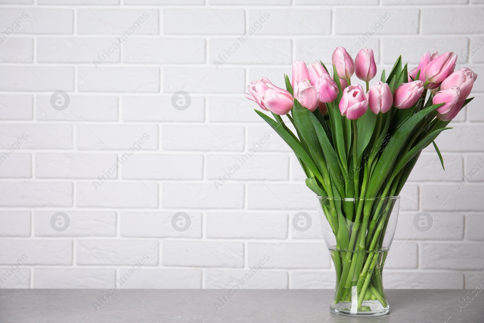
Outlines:
{"type": "MultiPolygon", "coordinates": [[[[222,308],[226,290],[128,290],[94,307],[106,290],[0,290],[0,322],[395,322],[483,323],[484,291],[465,308],[457,303],[468,290],[387,290],[390,314],[353,318],[330,314],[333,290],[241,290],[222,308]]],[[[475,292],[474,292],[475,294],[475,292]]]]}

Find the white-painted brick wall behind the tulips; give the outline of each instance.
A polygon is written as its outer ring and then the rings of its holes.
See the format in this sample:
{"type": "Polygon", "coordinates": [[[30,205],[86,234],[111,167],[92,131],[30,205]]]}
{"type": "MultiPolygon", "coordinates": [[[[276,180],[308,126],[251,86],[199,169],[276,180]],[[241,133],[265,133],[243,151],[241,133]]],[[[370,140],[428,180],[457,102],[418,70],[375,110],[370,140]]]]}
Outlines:
{"type": "MultiPolygon", "coordinates": [[[[0,276],[28,260],[1,288],[107,289],[143,259],[123,288],[231,288],[266,254],[244,288],[333,288],[314,194],[245,86],[283,86],[292,60],[330,62],[335,46],[371,47],[388,72],[399,54],[411,67],[484,45],[482,0],[0,0],[0,32],[23,13],[0,43],[0,155],[28,137],[0,164],[0,276]]],[[[476,99],[437,140],[446,170],[429,147],[402,191],[387,288],[483,278],[484,49],[471,54],[476,99]]]]}

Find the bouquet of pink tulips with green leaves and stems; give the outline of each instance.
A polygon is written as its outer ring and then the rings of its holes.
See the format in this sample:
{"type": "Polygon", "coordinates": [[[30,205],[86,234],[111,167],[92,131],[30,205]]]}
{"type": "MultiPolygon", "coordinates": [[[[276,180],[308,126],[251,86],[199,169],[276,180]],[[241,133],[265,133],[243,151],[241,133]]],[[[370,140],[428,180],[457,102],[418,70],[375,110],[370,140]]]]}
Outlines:
{"type": "Polygon", "coordinates": [[[380,251],[377,264],[382,266],[386,214],[393,206],[378,199],[400,193],[429,144],[444,166],[434,139],[450,129],[447,124],[472,100],[467,97],[477,77],[469,68],[454,71],[456,60],[453,52],[427,52],[408,71],[399,57],[388,76],[383,70],[380,81],[369,87],[377,74],[373,51],[361,49],[353,61],[345,48],[337,47],[333,77],[322,62],[308,68],[295,61],[292,82],[285,76],[286,90],[265,77],[248,86],[245,96],[272,112],[273,119],[256,110],[294,151],[306,185],[319,197],[345,198],[339,204],[321,200],[336,237],[331,246],[334,303],[351,300],[356,286],[358,308],[367,299],[386,306],[381,276],[374,275],[381,268],[376,269],[377,256],[372,258],[371,251],[380,251]],[[363,86],[351,83],[353,73],[363,86]]]}

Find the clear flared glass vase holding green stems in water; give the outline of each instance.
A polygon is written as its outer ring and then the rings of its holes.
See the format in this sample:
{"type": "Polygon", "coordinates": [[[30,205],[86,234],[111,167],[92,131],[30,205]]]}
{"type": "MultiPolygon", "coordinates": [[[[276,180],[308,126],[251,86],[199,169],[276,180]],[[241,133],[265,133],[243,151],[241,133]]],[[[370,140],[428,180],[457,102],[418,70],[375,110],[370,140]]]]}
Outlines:
{"type": "Polygon", "coordinates": [[[395,233],[399,199],[318,197],[324,240],[336,270],[332,313],[389,313],[382,273],[395,233]]]}

